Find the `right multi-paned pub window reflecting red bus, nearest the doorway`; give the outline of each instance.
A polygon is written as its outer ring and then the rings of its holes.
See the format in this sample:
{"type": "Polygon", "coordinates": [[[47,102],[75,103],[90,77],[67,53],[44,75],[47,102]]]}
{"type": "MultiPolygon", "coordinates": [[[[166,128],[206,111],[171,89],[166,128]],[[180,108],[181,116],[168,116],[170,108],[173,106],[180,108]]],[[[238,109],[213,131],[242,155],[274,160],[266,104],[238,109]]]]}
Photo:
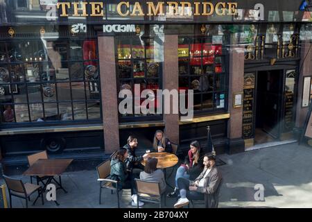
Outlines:
{"type": "Polygon", "coordinates": [[[179,37],[179,89],[193,89],[195,113],[227,109],[227,56],[223,35],[179,37]]]}

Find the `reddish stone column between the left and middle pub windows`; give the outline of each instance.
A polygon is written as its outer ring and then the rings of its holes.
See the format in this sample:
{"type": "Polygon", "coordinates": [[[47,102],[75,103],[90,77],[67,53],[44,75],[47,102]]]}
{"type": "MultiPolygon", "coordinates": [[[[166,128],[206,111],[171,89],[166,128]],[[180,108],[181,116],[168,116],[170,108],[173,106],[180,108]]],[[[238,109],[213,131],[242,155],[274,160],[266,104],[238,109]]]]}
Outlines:
{"type": "Polygon", "coordinates": [[[98,36],[105,153],[119,149],[119,119],[113,36],[98,36]]]}

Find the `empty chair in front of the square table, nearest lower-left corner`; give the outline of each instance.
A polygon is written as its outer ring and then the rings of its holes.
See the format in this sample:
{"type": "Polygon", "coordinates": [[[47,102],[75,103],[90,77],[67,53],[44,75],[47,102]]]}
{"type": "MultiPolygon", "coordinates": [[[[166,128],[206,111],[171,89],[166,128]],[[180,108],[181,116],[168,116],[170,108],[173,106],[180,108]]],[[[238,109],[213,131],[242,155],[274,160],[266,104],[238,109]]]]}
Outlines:
{"type": "MultiPolygon", "coordinates": [[[[31,194],[34,194],[35,191],[38,191],[38,195],[40,195],[40,191],[42,188],[39,185],[33,185],[32,183],[24,184],[22,180],[9,178],[8,176],[4,175],[3,178],[6,181],[6,186],[8,187],[8,193],[10,197],[10,208],[12,208],[12,196],[25,199],[26,208],[28,208],[28,200],[30,200],[31,194]]],[[[44,205],[43,192],[41,194],[41,199],[42,205],[44,205]]]]}

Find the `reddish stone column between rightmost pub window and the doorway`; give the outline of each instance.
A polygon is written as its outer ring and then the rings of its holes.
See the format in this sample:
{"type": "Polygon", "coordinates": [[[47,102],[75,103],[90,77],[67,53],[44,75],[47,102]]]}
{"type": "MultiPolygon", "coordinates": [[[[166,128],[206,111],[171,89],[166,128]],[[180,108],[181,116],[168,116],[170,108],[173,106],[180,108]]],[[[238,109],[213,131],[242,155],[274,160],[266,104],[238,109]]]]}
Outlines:
{"type": "Polygon", "coordinates": [[[234,93],[243,92],[244,83],[244,47],[231,46],[229,49],[229,113],[230,119],[227,127],[229,138],[229,153],[244,151],[242,139],[243,131],[243,105],[233,108],[234,93]]]}

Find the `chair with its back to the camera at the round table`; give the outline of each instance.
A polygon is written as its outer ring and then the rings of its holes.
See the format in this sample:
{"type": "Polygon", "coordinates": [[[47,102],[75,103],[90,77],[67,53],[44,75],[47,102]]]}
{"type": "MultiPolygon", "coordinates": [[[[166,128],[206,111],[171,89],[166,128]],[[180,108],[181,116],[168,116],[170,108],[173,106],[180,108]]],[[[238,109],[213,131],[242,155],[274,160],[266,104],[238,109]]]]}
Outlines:
{"type": "Polygon", "coordinates": [[[148,203],[159,203],[159,208],[162,208],[162,196],[164,205],[166,205],[166,191],[160,192],[159,182],[150,182],[145,180],[135,179],[137,185],[137,208],[139,208],[139,200],[144,200],[148,203]]]}

